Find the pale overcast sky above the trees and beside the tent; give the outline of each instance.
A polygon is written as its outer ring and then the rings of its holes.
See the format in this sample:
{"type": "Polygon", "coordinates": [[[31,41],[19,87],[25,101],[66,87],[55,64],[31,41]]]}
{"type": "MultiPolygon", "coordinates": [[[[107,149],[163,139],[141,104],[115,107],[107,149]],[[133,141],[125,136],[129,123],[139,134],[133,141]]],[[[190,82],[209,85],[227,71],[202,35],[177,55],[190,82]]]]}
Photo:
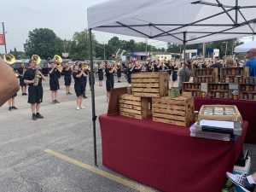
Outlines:
{"type": "MultiPolygon", "coordinates": [[[[35,28],[52,29],[59,38],[72,39],[74,32],[81,32],[87,28],[87,8],[108,0],[0,0],[0,22],[4,22],[7,49],[24,50],[28,32],[35,28]]],[[[102,16],[99,13],[100,16],[102,16]]],[[[1,23],[0,23],[1,24],[1,23]]],[[[0,26],[0,33],[2,27],[0,26]]],[[[144,38],[133,38],[107,32],[95,32],[96,40],[108,43],[113,36],[120,39],[145,42],[144,38]]],[[[250,41],[244,38],[242,41],[250,41]]],[[[148,40],[157,48],[166,47],[165,42],[148,40]]],[[[4,53],[4,46],[0,45],[0,53],[4,53]]]]}

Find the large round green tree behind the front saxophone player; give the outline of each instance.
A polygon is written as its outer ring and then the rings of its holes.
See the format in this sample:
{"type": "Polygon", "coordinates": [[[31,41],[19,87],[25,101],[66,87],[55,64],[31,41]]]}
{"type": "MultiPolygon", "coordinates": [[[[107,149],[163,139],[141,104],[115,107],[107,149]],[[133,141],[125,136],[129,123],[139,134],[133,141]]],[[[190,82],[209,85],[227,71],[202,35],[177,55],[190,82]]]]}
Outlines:
{"type": "Polygon", "coordinates": [[[36,28],[29,32],[24,44],[26,55],[39,55],[42,59],[53,58],[55,54],[60,55],[62,47],[61,39],[48,28],[36,28]]]}

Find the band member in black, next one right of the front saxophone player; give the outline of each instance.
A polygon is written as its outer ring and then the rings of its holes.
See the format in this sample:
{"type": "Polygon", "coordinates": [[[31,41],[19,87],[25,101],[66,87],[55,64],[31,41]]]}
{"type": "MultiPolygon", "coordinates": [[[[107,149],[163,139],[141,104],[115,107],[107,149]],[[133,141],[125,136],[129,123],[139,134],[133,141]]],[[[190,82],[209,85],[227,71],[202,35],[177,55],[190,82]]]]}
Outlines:
{"type": "Polygon", "coordinates": [[[51,99],[52,99],[52,103],[60,103],[57,100],[57,94],[58,94],[58,90],[60,89],[60,84],[59,84],[59,80],[58,80],[58,73],[60,72],[60,69],[58,69],[55,65],[55,61],[50,61],[49,62],[49,90],[51,90],[51,99]]]}

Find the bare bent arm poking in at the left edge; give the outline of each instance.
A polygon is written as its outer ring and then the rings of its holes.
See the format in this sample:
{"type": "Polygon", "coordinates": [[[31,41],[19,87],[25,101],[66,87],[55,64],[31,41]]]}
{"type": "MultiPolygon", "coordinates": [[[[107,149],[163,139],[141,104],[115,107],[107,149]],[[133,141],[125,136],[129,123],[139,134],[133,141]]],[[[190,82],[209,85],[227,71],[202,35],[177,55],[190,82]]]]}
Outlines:
{"type": "Polygon", "coordinates": [[[18,90],[20,90],[20,84],[13,69],[0,58],[0,106],[14,96],[18,90]]]}

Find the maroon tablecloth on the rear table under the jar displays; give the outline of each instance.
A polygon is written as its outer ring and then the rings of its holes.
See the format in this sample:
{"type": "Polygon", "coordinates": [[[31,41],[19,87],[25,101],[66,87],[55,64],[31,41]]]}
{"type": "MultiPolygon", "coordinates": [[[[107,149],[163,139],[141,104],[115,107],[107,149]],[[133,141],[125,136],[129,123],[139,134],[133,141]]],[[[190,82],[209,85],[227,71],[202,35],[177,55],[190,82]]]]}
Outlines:
{"type": "Polygon", "coordinates": [[[256,144],[256,102],[245,100],[229,99],[208,99],[195,97],[195,110],[200,110],[202,105],[236,105],[241,113],[241,117],[248,121],[247,135],[245,143],[256,144]]]}

